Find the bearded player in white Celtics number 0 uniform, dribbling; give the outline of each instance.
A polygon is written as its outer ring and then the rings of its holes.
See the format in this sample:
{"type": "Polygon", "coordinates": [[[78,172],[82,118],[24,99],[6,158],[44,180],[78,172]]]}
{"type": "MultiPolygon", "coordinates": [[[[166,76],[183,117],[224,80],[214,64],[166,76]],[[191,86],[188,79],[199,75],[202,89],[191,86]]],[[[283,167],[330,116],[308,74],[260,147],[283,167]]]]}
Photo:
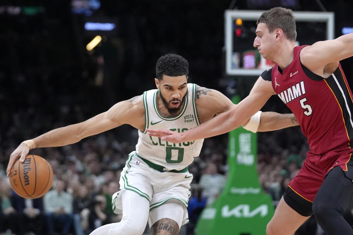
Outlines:
{"type": "MultiPolygon", "coordinates": [[[[32,148],[64,146],[130,124],[139,130],[139,139],[121,172],[120,191],[112,199],[113,210],[122,213],[122,220],[103,225],[91,235],[141,235],[147,222],[152,235],[178,234],[181,225],[188,222],[186,207],[193,175],[187,166],[199,155],[203,140],[173,144],[149,136],[146,129],[184,132],[234,106],[218,91],[188,84],[188,73],[189,63],[182,56],[160,57],[156,65],[157,89],[121,101],[85,122],[24,141],[11,154],[7,175],[17,157],[23,161],[32,148]]],[[[254,132],[295,125],[298,123],[292,114],[274,112],[258,112],[243,123],[254,132]]]]}

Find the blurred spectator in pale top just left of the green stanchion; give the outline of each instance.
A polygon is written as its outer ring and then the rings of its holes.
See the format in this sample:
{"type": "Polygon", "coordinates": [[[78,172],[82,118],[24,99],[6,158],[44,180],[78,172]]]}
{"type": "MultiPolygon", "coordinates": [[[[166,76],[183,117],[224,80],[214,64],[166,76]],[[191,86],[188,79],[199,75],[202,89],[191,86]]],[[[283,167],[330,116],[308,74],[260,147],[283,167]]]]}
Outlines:
{"type": "Polygon", "coordinates": [[[226,185],[226,177],[218,173],[217,165],[208,162],[205,174],[200,178],[199,185],[203,189],[203,197],[207,197],[207,205],[212,204],[226,185]]]}

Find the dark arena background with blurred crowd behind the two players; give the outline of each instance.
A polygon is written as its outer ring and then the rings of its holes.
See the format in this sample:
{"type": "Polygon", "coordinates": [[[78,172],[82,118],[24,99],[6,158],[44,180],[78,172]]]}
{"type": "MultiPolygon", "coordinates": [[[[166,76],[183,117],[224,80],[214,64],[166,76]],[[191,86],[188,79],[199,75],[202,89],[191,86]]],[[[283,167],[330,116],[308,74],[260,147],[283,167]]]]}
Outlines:
{"type": "MultiPolygon", "coordinates": [[[[315,16],[333,12],[334,38],[353,32],[350,0],[0,1],[0,234],[44,235],[55,225],[58,234],[68,226],[65,234],[88,235],[104,224],[119,222],[121,215],[112,211],[112,195],[119,191],[120,172],[135,149],[136,129],[123,125],[76,144],[30,151],[52,166],[51,191],[67,195],[60,205],[67,216],[55,223],[50,217],[54,202],[46,198],[50,191],[31,203],[12,191],[6,177],[10,154],[24,140],[82,122],[119,101],[155,89],[156,62],[167,53],[189,61],[188,82],[216,89],[231,99],[235,95],[245,98],[261,74],[255,70],[264,68],[252,47],[256,20],[239,17],[232,23],[228,32],[233,39],[232,68],[240,70],[230,74],[225,12],[263,12],[277,6],[315,16]],[[239,72],[251,69],[249,74],[239,72]]],[[[327,30],[325,21],[298,22],[298,44],[326,40],[327,30]]],[[[352,58],[341,64],[352,86],[352,58]]],[[[276,96],[262,111],[290,113],[276,96]]],[[[262,193],[270,195],[276,208],[309,146],[299,126],[256,135],[255,175],[262,193]]],[[[210,210],[226,186],[232,168],[228,149],[228,134],[205,139],[200,156],[189,166],[194,175],[190,223],[179,234],[202,234],[197,229],[199,219],[215,219],[204,209],[210,210]]],[[[256,208],[249,205],[254,212],[256,208]]],[[[257,217],[250,216],[255,212],[245,213],[244,207],[238,215],[232,206],[228,212],[235,227],[237,219],[249,219],[256,227],[257,217]]],[[[352,207],[345,218],[353,226],[352,207]]],[[[148,226],[144,234],[150,234],[148,226]]],[[[230,228],[227,234],[236,233],[230,228]]],[[[324,232],[311,217],[295,234],[324,232]]]]}

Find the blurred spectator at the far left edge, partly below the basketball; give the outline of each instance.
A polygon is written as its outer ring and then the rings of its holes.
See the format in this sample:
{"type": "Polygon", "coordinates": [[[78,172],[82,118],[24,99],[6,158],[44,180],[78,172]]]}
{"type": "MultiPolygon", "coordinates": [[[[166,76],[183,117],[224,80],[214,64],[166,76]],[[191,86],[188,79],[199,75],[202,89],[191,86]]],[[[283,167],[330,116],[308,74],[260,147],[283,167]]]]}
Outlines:
{"type": "Polygon", "coordinates": [[[18,231],[18,214],[11,202],[11,187],[5,181],[0,181],[0,232],[18,231]]]}

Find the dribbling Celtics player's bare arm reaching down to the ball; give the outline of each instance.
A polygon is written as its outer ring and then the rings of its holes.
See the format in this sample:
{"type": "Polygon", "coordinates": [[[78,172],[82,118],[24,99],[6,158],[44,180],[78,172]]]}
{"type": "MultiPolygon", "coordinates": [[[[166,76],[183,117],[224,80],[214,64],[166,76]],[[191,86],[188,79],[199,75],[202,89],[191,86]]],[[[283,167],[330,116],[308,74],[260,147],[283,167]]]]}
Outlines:
{"type": "Polygon", "coordinates": [[[141,95],[130,100],[121,101],[108,111],[98,114],[84,122],[57,128],[33,140],[24,141],[10,155],[10,161],[6,171],[7,176],[10,174],[10,169],[17,157],[20,156],[20,161],[23,162],[25,156],[32,148],[73,144],[85,137],[96,135],[122,124],[130,124],[136,128],[141,128],[140,126],[142,126],[143,128],[144,123],[140,123],[143,117],[144,109],[141,95]]]}

